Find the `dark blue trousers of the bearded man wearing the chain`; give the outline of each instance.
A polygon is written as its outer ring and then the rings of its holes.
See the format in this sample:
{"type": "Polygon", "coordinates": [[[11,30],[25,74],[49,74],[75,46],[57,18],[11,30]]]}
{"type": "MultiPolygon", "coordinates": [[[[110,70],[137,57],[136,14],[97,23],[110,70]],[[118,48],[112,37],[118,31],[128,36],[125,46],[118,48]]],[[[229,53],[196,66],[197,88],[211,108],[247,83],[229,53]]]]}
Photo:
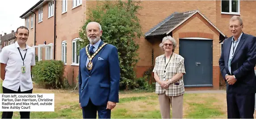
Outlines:
{"type": "Polygon", "coordinates": [[[98,119],[110,119],[111,117],[111,110],[106,109],[107,105],[103,106],[95,106],[91,99],[86,107],[82,107],[83,111],[83,118],[84,119],[96,119],[97,111],[98,111],[98,119]]]}

